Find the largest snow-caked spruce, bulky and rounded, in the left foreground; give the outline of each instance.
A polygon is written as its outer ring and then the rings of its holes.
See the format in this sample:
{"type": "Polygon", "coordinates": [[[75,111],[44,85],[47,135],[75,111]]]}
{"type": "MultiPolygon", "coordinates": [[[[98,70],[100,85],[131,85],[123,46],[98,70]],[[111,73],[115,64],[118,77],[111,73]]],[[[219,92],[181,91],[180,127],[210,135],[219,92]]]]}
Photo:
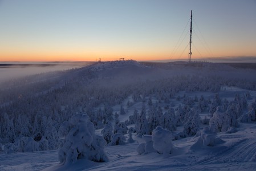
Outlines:
{"type": "Polygon", "coordinates": [[[59,139],[62,140],[59,150],[59,161],[62,164],[75,163],[80,158],[104,162],[108,157],[104,152],[105,140],[95,135],[94,124],[84,113],[72,116],[59,128],[59,139]]]}

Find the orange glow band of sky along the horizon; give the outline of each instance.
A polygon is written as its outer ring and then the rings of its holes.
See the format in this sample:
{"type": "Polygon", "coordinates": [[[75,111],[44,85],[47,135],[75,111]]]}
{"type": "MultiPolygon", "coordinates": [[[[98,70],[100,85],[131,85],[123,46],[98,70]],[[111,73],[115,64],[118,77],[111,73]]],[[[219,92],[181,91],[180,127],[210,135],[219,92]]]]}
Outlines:
{"type": "MultiPolygon", "coordinates": [[[[178,53],[177,53],[178,54],[178,53]]],[[[233,52],[229,53],[224,50],[220,50],[218,53],[214,52],[214,56],[200,56],[195,52],[192,54],[192,59],[200,59],[200,58],[216,58],[222,56],[255,56],[250,54],[246,54],[243,52],[233,52]]],[[[202,54],[203,55],[203,54],[202,54]]],[[[171,57],[169,51],[153,51],[153,50],[117,50],[115,52],[111,50],[84,50],[84,51],[42,51],[41,53],[38,51],[32,52],[0,52],[0,62],[56,62],[56,61],[96,61],[101,58],[101,61],[107,60],[119,60],[120,58],[125,58],[125,60],[133,59],[133,60],[184,60],[188,59],[187,54],[183,54],[182,56],[174,55],[171,57]],[[22,55],[21,55],[22,54],[22,55]]]]}

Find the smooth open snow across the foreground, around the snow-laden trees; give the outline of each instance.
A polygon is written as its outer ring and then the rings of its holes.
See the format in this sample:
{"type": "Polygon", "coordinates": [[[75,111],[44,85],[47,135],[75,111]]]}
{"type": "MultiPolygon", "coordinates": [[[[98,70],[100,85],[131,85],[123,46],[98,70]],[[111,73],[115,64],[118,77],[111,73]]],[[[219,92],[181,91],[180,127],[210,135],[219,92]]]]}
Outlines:
{"type": "MultiPolygon", "coordinates": [[[[219,133],[225,141],[212,147],[194,147],[197,138],[173,141],[172,154],[139,155],[137,143],[106,146],[109,162],[81,160],[66,170],[255,170],[256,125],[242,124],[237,133],[219,133]]],[[[58,164],[58,150],[0,154],[0,170],[63,170],[58,164]]]]}

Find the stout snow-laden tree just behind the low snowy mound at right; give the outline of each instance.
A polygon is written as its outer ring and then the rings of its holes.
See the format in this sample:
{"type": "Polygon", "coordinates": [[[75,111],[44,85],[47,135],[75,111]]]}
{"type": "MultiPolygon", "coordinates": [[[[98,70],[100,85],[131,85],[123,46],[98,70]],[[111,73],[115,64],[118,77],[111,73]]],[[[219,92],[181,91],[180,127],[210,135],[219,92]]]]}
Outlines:
{"type": "Polygon", "coordinates": [[[226,113],[221,111],[221,107],[217,107],[216,112],[213,113],[209,124],[215,124],[216,132],[225,132],[230,127],[230,119],[226,113]]]}

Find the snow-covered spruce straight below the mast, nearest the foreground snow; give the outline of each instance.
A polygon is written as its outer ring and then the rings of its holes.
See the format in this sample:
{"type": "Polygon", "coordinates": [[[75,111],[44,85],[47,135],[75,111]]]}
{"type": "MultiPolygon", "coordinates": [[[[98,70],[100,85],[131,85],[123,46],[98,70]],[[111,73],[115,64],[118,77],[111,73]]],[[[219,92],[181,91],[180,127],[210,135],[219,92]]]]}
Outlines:
{"type": "Polygon", "coordinates": [[[200,116],[197,111],[190,111],[189,119],[184,124],[183,133],[185,136],[193,136],[200,129],[200,116]]]}

